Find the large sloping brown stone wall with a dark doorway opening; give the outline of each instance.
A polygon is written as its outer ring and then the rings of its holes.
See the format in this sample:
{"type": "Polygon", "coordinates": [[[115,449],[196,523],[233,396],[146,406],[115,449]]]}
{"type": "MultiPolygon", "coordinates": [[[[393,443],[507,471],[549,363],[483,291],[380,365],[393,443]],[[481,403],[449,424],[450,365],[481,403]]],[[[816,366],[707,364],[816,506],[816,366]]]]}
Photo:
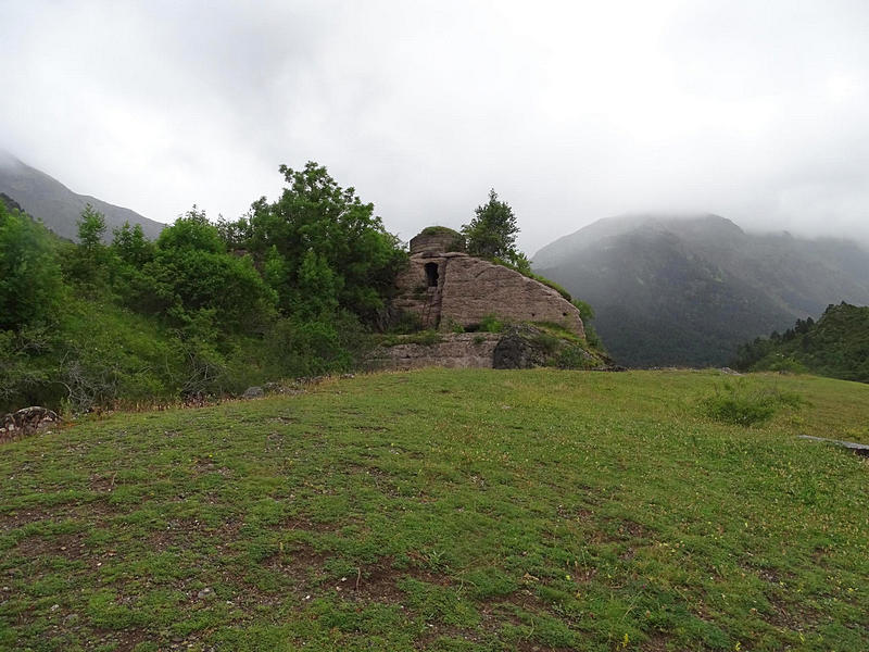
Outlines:
{"type": "Polygon", "coordinates": [[[516,322],[552,322],[585,334],[577,308],[556,290],[466,253],[414,254],[396,283],[396,308],[417,314],[427,328],[449,329],[453,324],[473,328],[487,315],[496,315],[516,322]]]}

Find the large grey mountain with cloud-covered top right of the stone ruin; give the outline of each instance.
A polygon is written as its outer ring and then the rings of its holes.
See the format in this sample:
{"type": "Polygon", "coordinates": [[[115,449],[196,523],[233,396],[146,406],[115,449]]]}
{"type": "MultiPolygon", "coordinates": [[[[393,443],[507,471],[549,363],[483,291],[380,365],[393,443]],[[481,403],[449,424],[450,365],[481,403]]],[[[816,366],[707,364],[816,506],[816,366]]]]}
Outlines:
{"type": "Polygon", "coordinates": [[[532,264],[594,308],[604,344],[629,366],[727,364],[741,343],[830,303],[869,303],[858,244],[746,234],[711,214],[601,220],[532,264]]]}

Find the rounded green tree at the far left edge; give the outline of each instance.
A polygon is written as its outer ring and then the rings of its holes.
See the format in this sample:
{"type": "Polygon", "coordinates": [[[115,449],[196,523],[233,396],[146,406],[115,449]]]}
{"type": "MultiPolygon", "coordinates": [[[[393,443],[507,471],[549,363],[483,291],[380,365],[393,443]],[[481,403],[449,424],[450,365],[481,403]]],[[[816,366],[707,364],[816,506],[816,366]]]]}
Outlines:
{"type": "Polygon", "coordinates": [[[51,235],[0,201],[0,330],[51,322],[62,288],[51,235]]]}

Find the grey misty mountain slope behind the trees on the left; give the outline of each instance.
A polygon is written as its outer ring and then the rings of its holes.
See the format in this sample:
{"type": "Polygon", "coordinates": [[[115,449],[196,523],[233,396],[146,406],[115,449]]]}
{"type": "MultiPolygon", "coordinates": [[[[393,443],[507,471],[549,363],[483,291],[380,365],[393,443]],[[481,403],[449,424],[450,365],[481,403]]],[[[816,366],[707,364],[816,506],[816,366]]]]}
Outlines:
{"type": "Polygon", "coordinates": [[[59,180],[15,156],[0,151],[0,193],[17,202],[27,213],[42,221],[63,238],[76,239],[76,221],[87,204],[105,215],[106,237],[125,222],[141,224],[148,238],[156,238],[165,226],[138,213],[106,203],[96,197],[77,195],[59,180]]]}

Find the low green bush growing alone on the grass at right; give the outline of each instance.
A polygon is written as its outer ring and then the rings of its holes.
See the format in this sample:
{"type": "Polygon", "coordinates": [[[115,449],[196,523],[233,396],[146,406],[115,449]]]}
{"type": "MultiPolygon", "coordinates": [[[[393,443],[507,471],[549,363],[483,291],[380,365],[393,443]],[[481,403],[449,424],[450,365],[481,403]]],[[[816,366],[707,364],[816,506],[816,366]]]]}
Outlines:
{"type": "Polygon", "coordinates": [[[798,408],[802,403],[799,394],[744,381],[725,383],[702,401],[704,414],[709,418],[744,427],[769,421],[782,406],[798,408]]]}

